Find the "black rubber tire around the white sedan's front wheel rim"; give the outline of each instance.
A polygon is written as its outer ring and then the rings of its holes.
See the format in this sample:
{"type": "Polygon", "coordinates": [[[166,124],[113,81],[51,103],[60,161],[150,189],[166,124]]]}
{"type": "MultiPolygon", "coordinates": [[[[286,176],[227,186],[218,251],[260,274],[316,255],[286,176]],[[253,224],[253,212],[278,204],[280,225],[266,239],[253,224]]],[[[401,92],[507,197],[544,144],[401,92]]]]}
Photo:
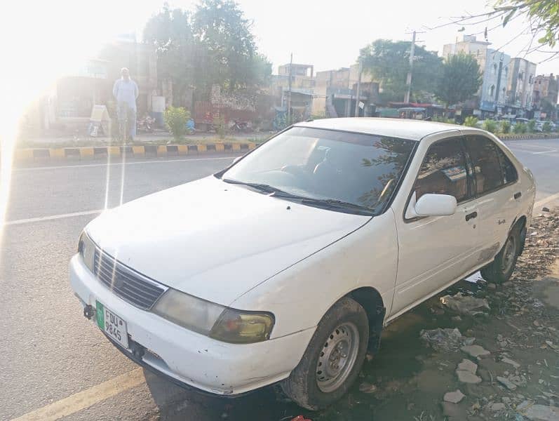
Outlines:
{"type": "MultiPolygon", "coordinates": [[[[328,310],[318,323],[301,361],[299,361],[299,364],[291,372],[290,376],[281,382],[283,392],[299,406],[309,410],[318,410],[329,406],[344,396],[349,387],[355,382],[363,366],[368,339],[369,321],[365,309],[351,298],[342,298],[328,310]],[[339,328],[342,328],[343,332],[344,326],[351,327],[349,330],[353,331],[353,335],[355,335],[355,332],[358,333],[355,357],[353,363],[351,363],[350,357],[344,362],[344,366],[340,370],[344,372],[344,376],[339,377],[341,383],[334,390],[324,392],[319,387],[318,382],[318,377],[321,376],[318,374],[321,372],[318,367],[318,363],[321,362],[319,359],[325,358],[323,349],[326,349],[328,341],[331,340],[332,344],[339,345],[339,342],[334,342],[336,338],[332,339],[332,334],[339,333],[339,328]]],[[[340,340],[340,342],[342,341],[343,339],[340,340]]],[[[330,347],[330,349],[334,348],[330,347]]],[[[334,356],[334,350],[328,352],[328,355],[334,356]]],[[[346,354],[350,353],[347,352],[346,354]]],[[[343,356],[344,354],[341,355],[343,356]]],[[[328,361],[330,362],[330,359],[328,361]]],[[[321,385],[324,384],[324,381],[321,380],[321,385]]]]}

